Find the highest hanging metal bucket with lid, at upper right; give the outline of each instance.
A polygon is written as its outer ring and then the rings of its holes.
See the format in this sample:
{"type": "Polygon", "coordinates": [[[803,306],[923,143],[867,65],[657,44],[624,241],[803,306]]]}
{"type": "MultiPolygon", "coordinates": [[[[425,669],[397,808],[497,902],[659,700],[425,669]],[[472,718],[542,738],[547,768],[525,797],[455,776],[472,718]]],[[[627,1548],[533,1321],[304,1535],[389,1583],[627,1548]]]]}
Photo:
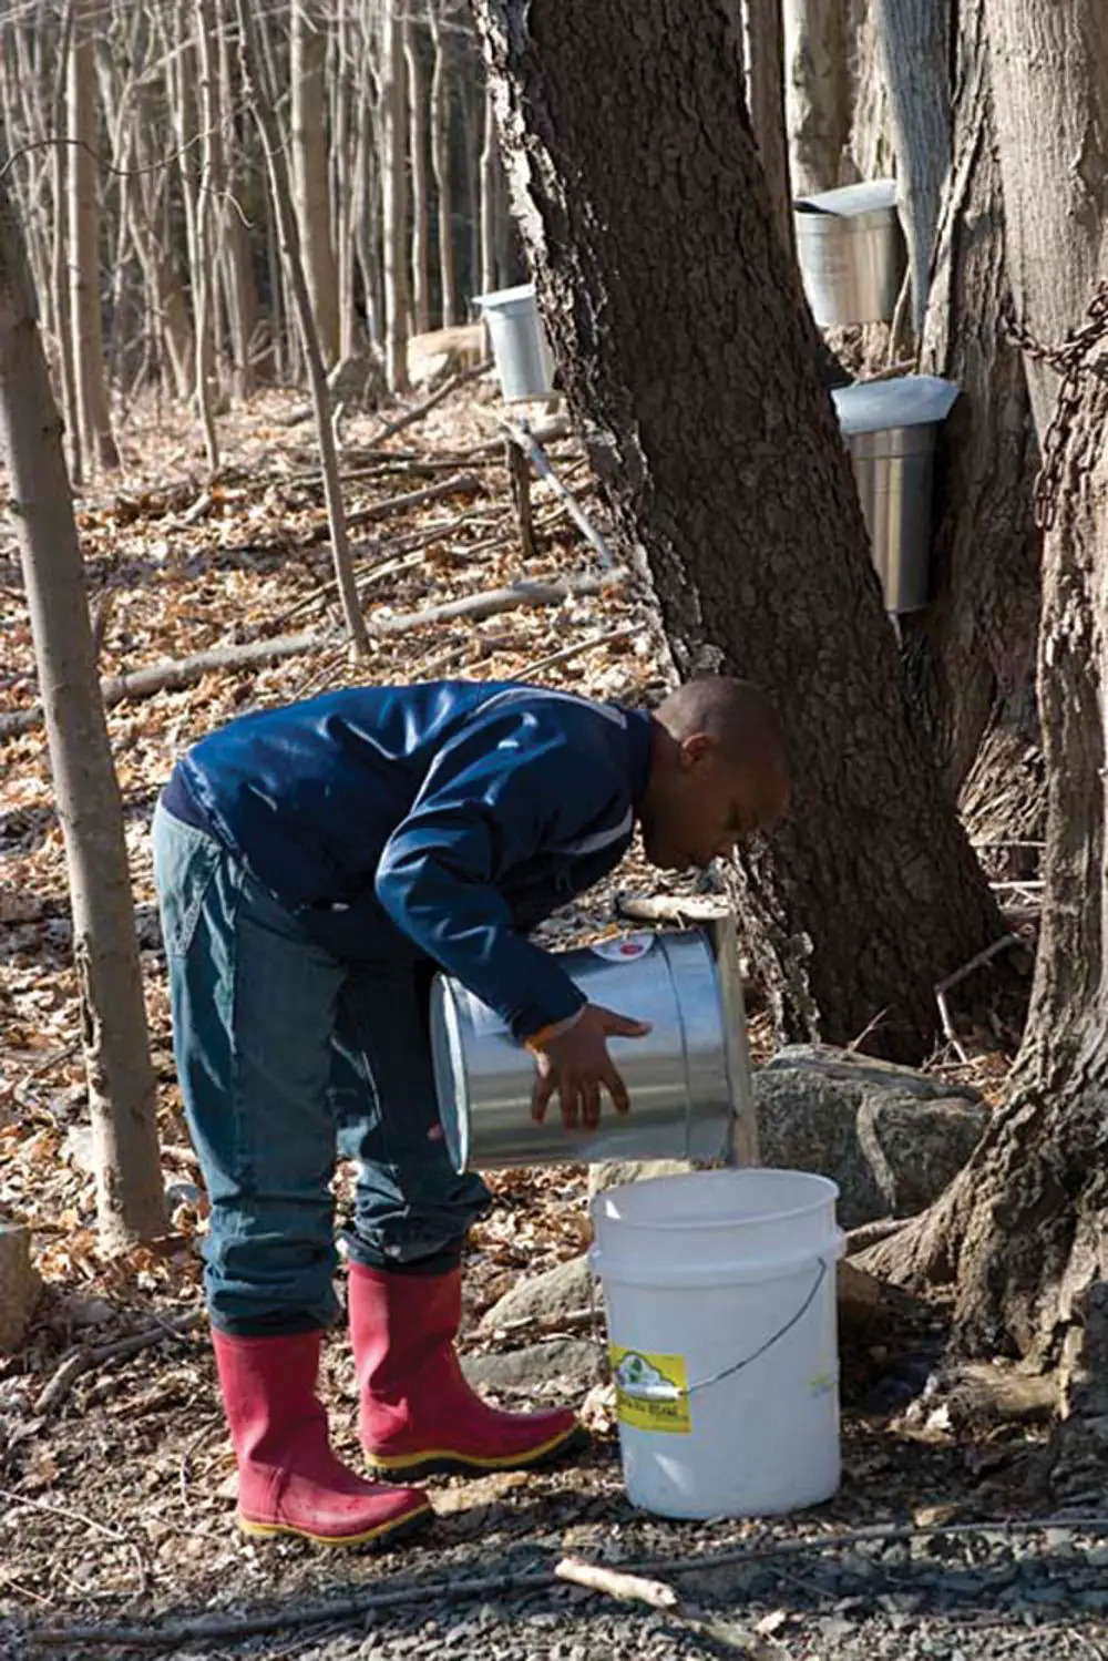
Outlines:
{"type": "Polygon", "coordinates": [[[907,267],[897,181],[846,184],[792,203],[796,251],[816,322],[892,322],[907,267]]]}

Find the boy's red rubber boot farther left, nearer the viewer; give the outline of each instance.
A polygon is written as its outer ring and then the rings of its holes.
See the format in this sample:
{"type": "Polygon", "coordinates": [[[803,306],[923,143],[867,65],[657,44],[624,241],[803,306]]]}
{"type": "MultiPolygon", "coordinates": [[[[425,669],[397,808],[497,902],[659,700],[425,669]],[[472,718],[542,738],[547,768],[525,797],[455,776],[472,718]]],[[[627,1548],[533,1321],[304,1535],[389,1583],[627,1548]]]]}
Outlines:
{"type": "Polygon", "coordinates": [[[211,1342],[239,1467],[243,1533],[392,1545],[430,1521],[419,1488],[364,1482],[331,1452],[316,1395],[322,1332],[239,1339],[213,1330],[211,1342]]]}

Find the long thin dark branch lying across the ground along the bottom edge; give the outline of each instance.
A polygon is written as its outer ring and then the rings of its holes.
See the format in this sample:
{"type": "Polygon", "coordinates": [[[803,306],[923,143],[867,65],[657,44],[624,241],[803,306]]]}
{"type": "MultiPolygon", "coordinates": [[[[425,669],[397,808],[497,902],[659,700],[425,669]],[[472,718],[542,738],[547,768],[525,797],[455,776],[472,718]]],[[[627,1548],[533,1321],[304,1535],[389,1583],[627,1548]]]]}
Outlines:
{"type": "MultiPolygon", "coordinates": [[[[724,1551],[704,1551],[684,1558],[645,1558],[643,1561],[613,1563],[610,1568],[625,1575],[703,1575],[708,1570],[729,1568],[739,1563],[766,1563],[771,1558],[804,1556],[812,1551],[842,1551],[857,1545],[897,1545],[904,1540],[935,1540],[963,1535],[1038,1535],[1047,1530],[1075,1535],[1108,1535],[1105,1516],[1040,1516],[980,1523],[934,1523],[897,1526],[875,1523],[841,1535],[801,1535],[789,1540],[769,1540],[753,1546],[729,1546],[724,1551]]],[[[73,1644],[135,1644],[138,1649],[173,1649],[178,1644],[213,1638],[246,1638],[256,1633],[277,1633],[286,1628],[319,1626],[324,1621],[360,1619],[377,1610],[402,1610],[409,1605],[432,1600],[468,1601],[488,1596],[527,1596],[550,1591],[558,1585],[553,1570],[535,1570],[530,1575],[483,1575],[475,1580],[425,1580],[419,1585],[387,1586],[384,1591],[367,1591],[327,1603],[296,1603],[257,1614],[199,1616],[191,1621],[166,1621],[164,1626],[45,1626],[25,1628],[23,1636],[45,1646],[73,1644]]]]}

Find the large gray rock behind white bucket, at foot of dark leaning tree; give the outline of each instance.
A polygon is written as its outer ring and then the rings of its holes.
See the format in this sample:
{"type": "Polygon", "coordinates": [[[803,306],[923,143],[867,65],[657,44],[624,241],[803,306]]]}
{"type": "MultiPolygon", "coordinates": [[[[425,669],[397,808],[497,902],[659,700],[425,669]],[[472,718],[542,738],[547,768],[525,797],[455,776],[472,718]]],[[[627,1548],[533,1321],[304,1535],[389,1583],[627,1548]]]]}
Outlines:
{"type": "Polygon", "coordinates": [[[754,1073],[762,1164],[839,1184],[839,1222],[925,1209],[973,1151],[980,1095],[914,1068],[791,1045],[754,1073]]]}

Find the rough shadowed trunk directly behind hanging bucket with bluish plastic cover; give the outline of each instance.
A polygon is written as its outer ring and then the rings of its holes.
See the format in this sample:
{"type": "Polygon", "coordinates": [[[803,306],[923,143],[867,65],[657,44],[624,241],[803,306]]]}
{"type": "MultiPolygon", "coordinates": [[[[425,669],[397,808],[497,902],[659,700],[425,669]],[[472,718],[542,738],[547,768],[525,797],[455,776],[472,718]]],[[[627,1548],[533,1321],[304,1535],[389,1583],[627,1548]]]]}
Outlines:
{"type": "Polygon", "coordinates": [[[978,834],[1035,835],[1035,638],[1040,537],[1027,380],[1005,327],[1005,198],[997,164],[988,50],[980,8],[960,8],[954,163],[935,244],[920,367],[957,380],[942,435],[935,603],[904,621],[910,684],[950,791],[978,834]],[[982,236],[980,226],[990,226],[982,236]],[[988,744],[982,752],[982,742],[988,744]],[[980,752],[980,759],[978,759],[980,752]],[[1023,801],[1000,821],[1005,784],[1023,801]]]}

